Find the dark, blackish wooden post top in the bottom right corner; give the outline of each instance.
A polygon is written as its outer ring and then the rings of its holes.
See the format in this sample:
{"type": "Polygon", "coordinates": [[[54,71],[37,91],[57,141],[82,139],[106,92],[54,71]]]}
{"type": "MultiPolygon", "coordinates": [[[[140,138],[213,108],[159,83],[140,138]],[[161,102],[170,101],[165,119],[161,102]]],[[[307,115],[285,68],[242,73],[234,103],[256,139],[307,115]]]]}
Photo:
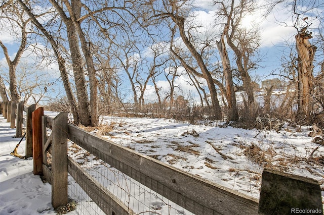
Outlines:
{"type": "Polygon", "coordinates": [[[323,214],[318,181],[302,176],[264,170],[259,214],[323,214]]]}

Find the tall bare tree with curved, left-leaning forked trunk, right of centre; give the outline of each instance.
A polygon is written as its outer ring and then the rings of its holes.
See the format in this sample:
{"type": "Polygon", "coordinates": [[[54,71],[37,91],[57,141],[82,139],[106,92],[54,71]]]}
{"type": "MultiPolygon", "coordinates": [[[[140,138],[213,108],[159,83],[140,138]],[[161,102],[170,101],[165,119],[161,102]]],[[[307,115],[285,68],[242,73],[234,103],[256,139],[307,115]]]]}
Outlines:
{"type": "Polygon", "coordinates": [[[196,45],[196,38],[193,36],[197,28],[196,26],[191,26],[188,21],[188,15],[186,10],[188,10],[188,6],[185,5],[186,2],[176,2],[176,1],[164,1],[164,8],[160,9],[159,11],[154,10],[154,15],[152,18],[170,18],[173,24],[175,25],[172,27],[170,24],[170,28],[172,31],[171,34],[171,52],[175,55],[178,60],[181,62],[182,66],[192,74],[206,79],[208,89],[210,92],[210,98],[212,101],[212,118],[215,120],[222,119],[222,112],[220,108],[220,104],[218,101],[217,90],[214,84],[214,78],[208,69],[208,64],[204,60],[204,51],[208,47],[210,47],[210,40],[206,41],[205,48],[199,49],[199,46],[196,45]],[[177,33],[179,33],[182,42],[184,43],[185,47],[188,49],[189,52],[185,52],[181,47],[177,46],[174,43],[174,37],[177,33]],[[183,53],[190,53],[191,60],[187,59],[187,56],[184,56],[183,53]],[[197,65],[191,66],[192,62],[197,65]],[[190,65],[191,64],[191,65],[190,65]],[[199,69],[199,71],[198,71],[199,69]]]}

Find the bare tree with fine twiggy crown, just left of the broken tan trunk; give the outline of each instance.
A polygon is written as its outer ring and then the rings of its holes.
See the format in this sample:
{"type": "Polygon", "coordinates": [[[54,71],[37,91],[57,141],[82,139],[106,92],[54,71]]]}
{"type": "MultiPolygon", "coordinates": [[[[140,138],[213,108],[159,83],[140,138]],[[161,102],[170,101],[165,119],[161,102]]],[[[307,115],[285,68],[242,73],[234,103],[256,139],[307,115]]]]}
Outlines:
{"type": "Polygon", "coordinates": [[[226,41],[234,52],[237,71],[248,97],[246,111],[248,116],[253,117],[256,113],[257,104],[254,98],[250,71],[257,67],[253,57],[257,54],[260,38],[258,29],[246,29],[240,26],[240,22],[245,15],[255,10],[255,1],[214,1],[214,4],[220,8],[219,17],[225,20],[224,34],[226,41]]]}

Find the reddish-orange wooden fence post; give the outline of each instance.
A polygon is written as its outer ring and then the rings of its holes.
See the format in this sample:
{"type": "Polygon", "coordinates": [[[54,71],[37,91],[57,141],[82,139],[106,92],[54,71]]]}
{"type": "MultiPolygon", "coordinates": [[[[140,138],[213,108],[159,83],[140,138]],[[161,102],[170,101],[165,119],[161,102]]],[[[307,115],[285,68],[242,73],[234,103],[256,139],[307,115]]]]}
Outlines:
{"type": "Polygon", "coordinates": [[[39,107],[32,113],[32,155],[34,159],[34,175],[43,174],[42,153],[42,116],[44,108],[39,107]]]}

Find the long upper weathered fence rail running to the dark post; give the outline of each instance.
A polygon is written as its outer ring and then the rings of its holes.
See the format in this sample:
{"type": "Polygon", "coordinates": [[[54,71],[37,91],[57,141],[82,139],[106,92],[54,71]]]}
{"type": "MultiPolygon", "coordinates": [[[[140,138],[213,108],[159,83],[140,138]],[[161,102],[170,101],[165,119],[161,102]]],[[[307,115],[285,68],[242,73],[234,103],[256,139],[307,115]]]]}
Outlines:
{"type": "Polygon", "coordinates": [[[68,134],[71,141],[112,167],[195,214],[240,214],[242,211],[258,214],[255,198],[180,171],[76,126],[68,125],[68,134]],[[152,186],[156,183],[159,186],[152,186]]]}

